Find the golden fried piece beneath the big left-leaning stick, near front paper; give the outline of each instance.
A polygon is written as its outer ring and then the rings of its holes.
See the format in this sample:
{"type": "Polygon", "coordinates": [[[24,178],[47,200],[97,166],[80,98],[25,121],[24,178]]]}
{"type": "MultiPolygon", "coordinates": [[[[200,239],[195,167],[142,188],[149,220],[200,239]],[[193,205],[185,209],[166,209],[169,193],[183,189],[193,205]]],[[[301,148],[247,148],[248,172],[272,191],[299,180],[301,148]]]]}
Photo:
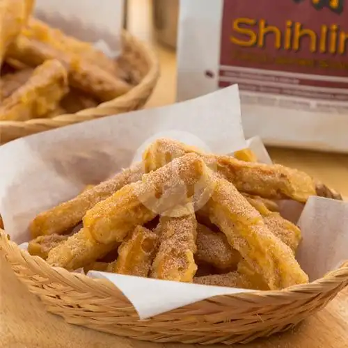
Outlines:
{"type": "Polygon", "coordinates": [[[119,245],[117,242],[100,244],[90,239],[82,228],[49,251],[47,262],[53,267],[63,267],[68,271],[74,271],[104,257],[119,245]]]}

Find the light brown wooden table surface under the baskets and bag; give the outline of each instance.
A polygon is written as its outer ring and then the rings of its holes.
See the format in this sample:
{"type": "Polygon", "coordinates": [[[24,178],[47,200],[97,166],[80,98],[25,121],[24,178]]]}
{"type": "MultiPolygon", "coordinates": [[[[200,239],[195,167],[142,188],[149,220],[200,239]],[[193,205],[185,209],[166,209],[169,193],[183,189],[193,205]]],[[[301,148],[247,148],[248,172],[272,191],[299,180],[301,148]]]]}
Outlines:
{"type": "MultiPolygon", "coordinates": [[[[130,10],[143,8],[144,0],[132,0],[130,10]],[[136,6],[134,6],[136,5],[136,6]]],[[[140,18],[130,29],[148,40],[140,18]],[[140,24],[139,24],[140,23],[140,24]]],[[[133,23],[133,24],[132,24],[133,23]]],[[[148,24],[146,24],[148,25],[148,24]]],[[[175,98],[175,54],[155,47],[161,60],[162,76],[148,107],[171,104],[175,98]]],[[[307,171],[348,197],[348,155],[323,154],[300,150],[269,149],[274,161],[307,171]]],[[[193,348],[195,345],[137,342],[90,329],[73,326],[45,312],[42,303],[19,283],[0,255],[0,347],[2,348],[193,348]]],[[[209,346],[217,347],[217,346],[209,346]]],[[[342,291],[317,315],[288,333],[259,340],[245,348],[344,348],[348,347],[348,289],[342,291]]]]}

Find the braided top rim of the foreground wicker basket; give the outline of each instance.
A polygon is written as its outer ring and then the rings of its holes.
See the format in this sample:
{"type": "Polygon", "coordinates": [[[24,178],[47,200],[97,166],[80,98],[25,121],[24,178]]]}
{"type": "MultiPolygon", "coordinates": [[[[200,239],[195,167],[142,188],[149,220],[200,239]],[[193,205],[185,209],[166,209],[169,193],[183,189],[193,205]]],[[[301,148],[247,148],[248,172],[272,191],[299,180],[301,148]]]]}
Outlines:
{"type": "MultiPolygon", "coordinates": [[[[1,244],[4,244],[9,249],[15,249],[17,252],[20,253],[22,258],[24,260],[26,259],[32,259],[35,260],[35,264],[38,264],[38,267],[42,271],[49,271],[49,273],[56,275],[56,278],[59,278],[62,280],[63,283],[69,285],[72,280],[80,280],[83,283],[86,283],[89,287],[97,287],[98,290],[103,290],[105,287],[107,287],[108,290],[118,290],[118,287],[111,283],[110,280],[107,279],[96,279],[96,278],[90,278],[86,276],[85,274],[79,274],[67,271],[63,268],[56,268],[51,267],[45,260],[42,260],[39,256],[31,256],[28,252],[22,250],[19,248],[19,246],[8,239],[6,232],[4,230],[0,229],[0,251],[3,246],[1,244]]],[[[250,301],[250,302],[258,302],[258,299],[265,299],[265,298],[277,298],[278,300],[285,300],[290,301],[293,297],[301,295],[308,297],[313,296],[313,293],[320,293],[322,290],[327,291],[329,287],[337,287],[338,284],[342,283],[342,285],[347,282],[348,285],[348,260],[342,263],[342,266],[339,269],[335,269],[333,271],[330,271],[326,276],[323,278],[319,278],[311,283],[308,284],[302,284],[302,285],[294,285],[292,287],[287,287],[284,290],[271,290],[271,291],[255,291],[255,292],[242,292],[239,294],[227,294],[227,295],[219,295],[214,296],[214,298],[235,298],[235,299],[243,299],[244,301],[250,301]]],[[[203,300],[205,301],[205,300],[203,300]]]]}

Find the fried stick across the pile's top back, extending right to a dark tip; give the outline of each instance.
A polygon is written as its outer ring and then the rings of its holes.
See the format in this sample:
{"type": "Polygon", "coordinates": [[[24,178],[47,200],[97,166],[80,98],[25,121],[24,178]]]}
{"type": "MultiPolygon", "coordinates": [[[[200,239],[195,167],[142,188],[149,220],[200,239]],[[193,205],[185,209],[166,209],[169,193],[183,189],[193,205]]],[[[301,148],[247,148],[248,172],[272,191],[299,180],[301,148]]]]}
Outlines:
{"type": "MultiPolygon", "coordinates": [[[[230,156],[204,155],[203,152],[178,141],[159,139],[143,154],[145,172],[168,163],[174,158],[196,152],[205,163],[232,182],[238,191],[270,199],[293,199],[306,202],[317,193],[317,182],[312,177],[278,164],[267,165],[239,161],[230,156]]],[[[325,193],[327,196],[327,192],[325,193]]]]}

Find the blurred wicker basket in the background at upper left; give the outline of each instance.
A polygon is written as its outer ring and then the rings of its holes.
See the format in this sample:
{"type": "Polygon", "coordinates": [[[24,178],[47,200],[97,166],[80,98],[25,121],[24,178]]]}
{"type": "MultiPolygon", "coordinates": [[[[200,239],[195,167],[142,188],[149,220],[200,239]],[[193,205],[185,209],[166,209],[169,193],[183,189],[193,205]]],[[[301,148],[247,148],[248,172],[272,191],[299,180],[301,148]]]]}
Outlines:
{"type": "Polygon", "coordinates": [[[159,62],[152,49],[127,32],[122,33],[122,67],[138,84],[128,93],[93,109],[85,109],[55,118],[36,118],[27,121],[0,121],[0,144],[22,136],[72,125],[104,116],[140,109],[150,97],[159,78],[159,62]]]}

